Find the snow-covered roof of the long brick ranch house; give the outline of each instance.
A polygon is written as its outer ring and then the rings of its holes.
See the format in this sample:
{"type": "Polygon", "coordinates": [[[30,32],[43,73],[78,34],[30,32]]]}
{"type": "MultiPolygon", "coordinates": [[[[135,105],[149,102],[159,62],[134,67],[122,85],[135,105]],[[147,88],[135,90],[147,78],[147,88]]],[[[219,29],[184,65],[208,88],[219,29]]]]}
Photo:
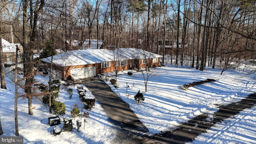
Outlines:
{"type": "MultiPolygon", "coordinates": [[[[86,49],[86,50],[71,50],[53,56],[53,64],[57,66],[80,66],[87,64],[99,64],[102,62],[111,62],[114,60],[129,60],[129,59],[145,59],[145,58],[160,58],[159,54],[144,51],[136,48],[118,48],[115,50],[108,49],[86,49]]],[[[44,62],[51,62],[51,57],[43,58],[44,62]]]]}

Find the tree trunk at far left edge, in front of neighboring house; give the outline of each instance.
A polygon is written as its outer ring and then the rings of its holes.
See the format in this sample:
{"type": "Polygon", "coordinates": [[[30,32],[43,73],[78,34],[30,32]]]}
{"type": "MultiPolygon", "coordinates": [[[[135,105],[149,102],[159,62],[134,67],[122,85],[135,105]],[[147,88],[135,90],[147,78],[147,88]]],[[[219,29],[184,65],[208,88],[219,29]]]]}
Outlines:
{"type": "Polygon", "coordinates": [[[4,73],[4,54],[2,48],[2,34],[1,34],[1,26],[0,26],[0,79],[1,79],[1,88],[6,89],[5,83],[5,73],[4,73]]]}

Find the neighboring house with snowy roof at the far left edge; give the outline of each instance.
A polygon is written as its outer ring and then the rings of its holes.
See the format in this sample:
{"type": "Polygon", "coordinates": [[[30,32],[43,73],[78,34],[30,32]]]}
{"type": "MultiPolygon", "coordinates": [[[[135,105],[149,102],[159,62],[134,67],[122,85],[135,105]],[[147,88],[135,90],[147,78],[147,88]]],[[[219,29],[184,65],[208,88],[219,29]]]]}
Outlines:
{"type": "Polygon", "coordinates": [[[23,62],[23,47],[18,43],[10,43],[2,38],[2,48],[4,54],[4,64],[14,64],[16,47],[18,46],[18,63],[23,62]]]}

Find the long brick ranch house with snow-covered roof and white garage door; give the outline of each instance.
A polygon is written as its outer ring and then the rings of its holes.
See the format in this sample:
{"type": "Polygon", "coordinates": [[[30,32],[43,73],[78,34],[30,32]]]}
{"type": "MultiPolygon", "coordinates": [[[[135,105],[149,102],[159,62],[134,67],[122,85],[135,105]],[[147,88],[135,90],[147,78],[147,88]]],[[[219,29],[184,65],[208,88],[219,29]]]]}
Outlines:
{"type": "MultiPolygon", "coordinates": [[[[107,72],[160,65],[159,54],[136,48],[71,50],[53,56],[53,79],[82,79],[107,72]]],[[[51,57],[41,59],[50,70],[51,57]]]]}

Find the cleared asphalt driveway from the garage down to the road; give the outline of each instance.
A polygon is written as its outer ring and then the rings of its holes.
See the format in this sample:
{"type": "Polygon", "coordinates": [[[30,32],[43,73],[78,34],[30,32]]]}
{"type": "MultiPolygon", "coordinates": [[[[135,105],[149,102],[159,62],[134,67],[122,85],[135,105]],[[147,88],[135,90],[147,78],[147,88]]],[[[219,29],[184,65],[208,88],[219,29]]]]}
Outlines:
{"type": "Polygon", "coordinates": [[[147,128],[138,120],[138,117],[111,88],[97,77],[82,80],[84,84],[95,96],[107,116],[112,121],[122,124],[123,128],[139,133],[147,132],[147,128]]]}

